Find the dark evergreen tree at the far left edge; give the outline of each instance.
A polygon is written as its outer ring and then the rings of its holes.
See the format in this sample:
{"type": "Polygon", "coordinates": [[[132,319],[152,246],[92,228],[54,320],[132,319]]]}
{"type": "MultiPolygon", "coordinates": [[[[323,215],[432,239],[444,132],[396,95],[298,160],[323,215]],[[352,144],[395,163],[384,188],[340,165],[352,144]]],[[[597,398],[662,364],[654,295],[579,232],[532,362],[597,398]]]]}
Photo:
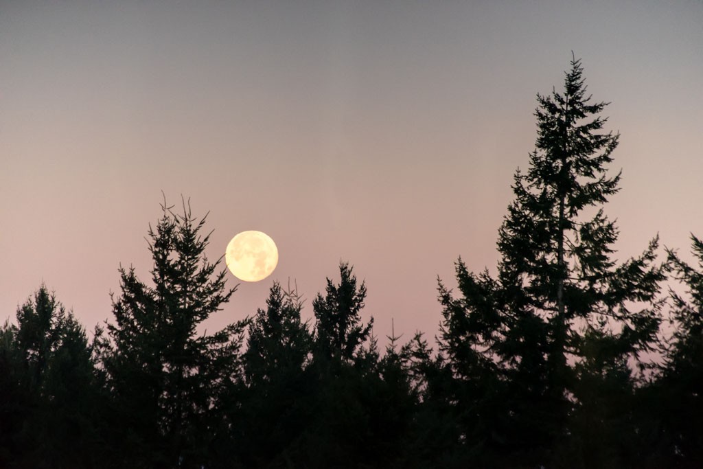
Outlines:
{"type": "Polygon", "coordinates": [[[84,329],[46,285],[16,317],[0,330],[0,465],[92,467],[97,390],[84,329]]]}

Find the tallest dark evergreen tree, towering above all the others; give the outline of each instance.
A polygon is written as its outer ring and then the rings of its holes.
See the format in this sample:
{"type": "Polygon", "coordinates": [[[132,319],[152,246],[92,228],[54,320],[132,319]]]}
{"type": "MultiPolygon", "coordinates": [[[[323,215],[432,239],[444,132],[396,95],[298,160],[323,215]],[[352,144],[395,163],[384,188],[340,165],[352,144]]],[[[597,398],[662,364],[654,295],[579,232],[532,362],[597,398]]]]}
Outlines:
{"type": "Polygon", "coordinates": [[[602,205],[618,191],[607,165],[619,134],[602,131],[607,103],[591,102],[582,72],[574,58],[563,93],[537,95],[536,149],[527,173],[515,173],[497,278],[459,259],[461,297],[439,285],[440,346],[463,388],[459,406],[488,430],[479,449],[526,465],[554,460],[559,446],[576,457],[600,451],[566,441],[569,416],[598,401],[580,386],[652,349],[660,323],[657,239],[640,257],[612,259],[618,232],[602,205]],[[593,349],[602,368],[588,365],[593,349]]]}

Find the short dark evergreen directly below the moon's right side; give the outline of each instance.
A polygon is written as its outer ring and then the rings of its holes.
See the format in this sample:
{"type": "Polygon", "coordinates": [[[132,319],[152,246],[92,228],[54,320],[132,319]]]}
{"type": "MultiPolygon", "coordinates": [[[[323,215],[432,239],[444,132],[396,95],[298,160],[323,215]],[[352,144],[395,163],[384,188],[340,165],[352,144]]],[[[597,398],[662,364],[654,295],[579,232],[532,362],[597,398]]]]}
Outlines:
{"type": "Polygon", "coordinates": [[[312,336],[300,319],[302,303],[297,290],[284,291],[274,282],[266,309],[257,311],[248,328],[241,408],[231,405],[238,399],[228,406],[243,467],[285,467],[297,457],[314,406],[306,369],[312,336]]]}

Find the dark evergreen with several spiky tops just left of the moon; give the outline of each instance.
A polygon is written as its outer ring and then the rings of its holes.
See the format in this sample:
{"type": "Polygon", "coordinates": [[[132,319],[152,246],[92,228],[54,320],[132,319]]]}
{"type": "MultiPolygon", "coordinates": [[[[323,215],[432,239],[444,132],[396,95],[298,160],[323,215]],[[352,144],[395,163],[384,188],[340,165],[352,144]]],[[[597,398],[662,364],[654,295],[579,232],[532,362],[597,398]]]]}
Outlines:
{"type": "Polygon", "coordinates": [[[185,202],[183,214],[161,208],[148,230],[153,285],[120,267],[101,356],[120,429],[115,441],[129,447],[122,456],[138,467],[200,467],[221,420],[218,399],[240,377],[246,321],[199,333],[236,288],[227,290],[225,271],[217,273],[221,258],[205,256],[207,214],[198,220],[185,202]]]}

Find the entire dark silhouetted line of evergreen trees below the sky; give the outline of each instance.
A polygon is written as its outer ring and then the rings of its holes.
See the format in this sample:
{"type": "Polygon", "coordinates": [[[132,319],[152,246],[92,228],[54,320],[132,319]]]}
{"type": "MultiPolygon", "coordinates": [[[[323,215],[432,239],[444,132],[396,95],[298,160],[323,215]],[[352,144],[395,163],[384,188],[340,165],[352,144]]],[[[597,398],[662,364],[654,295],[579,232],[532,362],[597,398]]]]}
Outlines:
{"type": "Polygon", "coordinates": [[[458,259],[434,342],[381,350],[347,263],[314,321],[273,283],[254,316],[200,333],[236,288],[205,217],[164,203],[150,282],[120,268],[91,340],[46,285],[0,327],[0,467],[703,467],[703,240],[693,266],[657,237],[614,259],[619,134],[570,65],[537,95],[497,274],[458,259]]]}

